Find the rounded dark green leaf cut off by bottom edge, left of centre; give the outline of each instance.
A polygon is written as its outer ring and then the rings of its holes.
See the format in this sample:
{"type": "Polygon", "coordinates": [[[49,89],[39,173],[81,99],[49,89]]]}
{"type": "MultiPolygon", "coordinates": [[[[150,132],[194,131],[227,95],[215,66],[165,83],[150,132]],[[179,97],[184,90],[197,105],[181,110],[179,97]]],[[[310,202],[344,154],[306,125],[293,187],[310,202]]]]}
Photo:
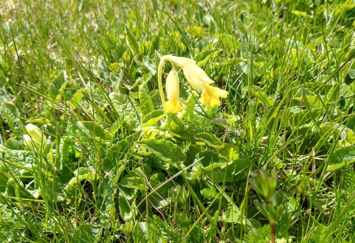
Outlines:
{"type": "Polygon", "coordinates": [[[99,237],[100,229],[96,225],[84,224],[73,233],[73,243],[92,243],[99,237]]]}

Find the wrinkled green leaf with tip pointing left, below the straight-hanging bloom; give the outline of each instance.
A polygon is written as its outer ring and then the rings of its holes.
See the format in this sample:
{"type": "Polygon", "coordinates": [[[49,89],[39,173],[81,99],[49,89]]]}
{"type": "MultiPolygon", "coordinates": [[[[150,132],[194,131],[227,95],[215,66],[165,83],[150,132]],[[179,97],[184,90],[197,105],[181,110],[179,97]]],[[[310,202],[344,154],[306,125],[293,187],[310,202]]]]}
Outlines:
{"type": "Polygon", "coordinates": [[[161,159],[159,167],[167,170],[170,166],[179,168],[186,155],[181,148],[167,140],[147,139],[135,142],[135,144],[147,148],[161,159]]]}

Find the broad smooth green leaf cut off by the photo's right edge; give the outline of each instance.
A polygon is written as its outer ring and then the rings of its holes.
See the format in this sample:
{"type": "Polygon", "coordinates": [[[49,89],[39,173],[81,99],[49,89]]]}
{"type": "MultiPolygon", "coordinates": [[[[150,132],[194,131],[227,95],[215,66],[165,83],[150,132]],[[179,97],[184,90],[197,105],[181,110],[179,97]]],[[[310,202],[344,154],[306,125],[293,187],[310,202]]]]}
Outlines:
{"type": "Polygon", "coordinates": [[[335,150],[329,155],[327,171],[334,171],[355,162],[355,146],[346,146],[335,150]]]}

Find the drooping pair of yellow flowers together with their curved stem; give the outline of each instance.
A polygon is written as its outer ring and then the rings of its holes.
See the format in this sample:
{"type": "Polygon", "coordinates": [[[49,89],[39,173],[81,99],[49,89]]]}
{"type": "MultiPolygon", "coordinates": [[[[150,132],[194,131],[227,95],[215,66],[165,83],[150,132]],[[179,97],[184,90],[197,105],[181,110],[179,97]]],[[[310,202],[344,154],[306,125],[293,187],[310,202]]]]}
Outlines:
{"type": "Polygon", "coordinates": [[[160,60],[158,67],[158,81],[160,89],[160,97],[164,109],[168,113],[177,113],[182,109],[180,104],[180,84],[179,75],[177,74],[174,66],[181,67],[183,69],[184,75],[189,82],[189,84],[198,91],[202,92],[201,102],[202,105],[207,105],[208,107],[215,107],[221,105],[220,98],[227,98],[228,92],[221,90],[220,88],[210,86],[210,84],[215,83],[208,75],[196,65],[196,61],[186,57],[176,57],[173,55],[163,56],[160,60]],[[164,93],[162,90],[161,83],[161,71],[163,62],[168,61],[172,65],[172,69],[166,78],[166,94],[168,101],[165,103],[164,93]]]}

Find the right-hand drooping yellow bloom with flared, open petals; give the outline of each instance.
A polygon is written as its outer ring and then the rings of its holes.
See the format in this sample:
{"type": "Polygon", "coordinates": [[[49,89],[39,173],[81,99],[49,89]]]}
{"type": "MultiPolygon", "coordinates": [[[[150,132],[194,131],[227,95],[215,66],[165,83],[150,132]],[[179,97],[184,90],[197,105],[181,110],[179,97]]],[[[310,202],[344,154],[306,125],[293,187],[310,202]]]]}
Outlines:
{"type": "Polygon", "coordinates": [[[202,105],[207,105],[211,108],[221,105],[220,98],[227,98],[228,92],[217,87],[212,87],[209,84],[215,83],[208,75],[196,64],[188,63],[183,67],[184,75],[189,84],[196,90],[202,92],[202,105]]]}

